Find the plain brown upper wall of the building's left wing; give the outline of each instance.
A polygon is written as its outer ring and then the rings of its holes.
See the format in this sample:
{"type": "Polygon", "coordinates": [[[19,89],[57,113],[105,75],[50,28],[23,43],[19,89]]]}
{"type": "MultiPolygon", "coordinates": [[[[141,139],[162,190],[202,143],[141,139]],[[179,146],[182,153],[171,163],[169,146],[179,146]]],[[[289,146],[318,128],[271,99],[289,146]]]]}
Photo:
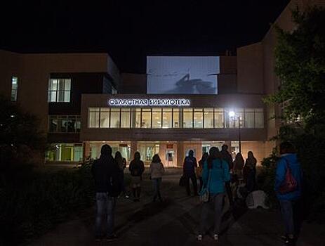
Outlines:
{"type": "MultiPolygon", "coordinates": [[[[0,93],[11,96],[11,77],[18,77],[18,104],[41,119],[41,131],[48,124],[48,79],[51,73],[105,72],[105,53],[18,54],[0,51],[0,93]]],[[[111,65],[114,68],[114,65],[111,65]]],[[[111,68],[111,69],[113,69],[111,68]]]]}

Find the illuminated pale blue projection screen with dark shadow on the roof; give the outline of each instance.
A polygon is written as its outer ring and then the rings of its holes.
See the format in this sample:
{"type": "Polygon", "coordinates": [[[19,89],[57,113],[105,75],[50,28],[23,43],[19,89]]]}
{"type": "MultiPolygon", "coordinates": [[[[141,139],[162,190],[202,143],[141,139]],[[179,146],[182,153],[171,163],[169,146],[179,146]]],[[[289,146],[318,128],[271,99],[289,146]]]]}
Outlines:
{"type": "Polygon", "coordinates": [[[148,94],[217,94],[219,56],[147,56],[148,94]]]}

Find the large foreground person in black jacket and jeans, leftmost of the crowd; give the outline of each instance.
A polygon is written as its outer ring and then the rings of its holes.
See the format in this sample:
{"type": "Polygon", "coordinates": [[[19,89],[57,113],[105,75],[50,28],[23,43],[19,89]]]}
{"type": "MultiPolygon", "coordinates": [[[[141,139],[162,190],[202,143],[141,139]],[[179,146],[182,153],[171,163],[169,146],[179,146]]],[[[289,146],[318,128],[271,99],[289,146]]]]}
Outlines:
{"type": "Polygon", "coordinates": [[[95,179],[96,192],[96,219],[95,237],[100,240],[102,237],[102,221],[107,221],[107,240],[114,240],[114,213],[117,196],[121,192],[120,170],[117,162],[112,157],[110,145],[102,145],[100,158],[95,160],[92,166],[93,177],[95,179]]]}

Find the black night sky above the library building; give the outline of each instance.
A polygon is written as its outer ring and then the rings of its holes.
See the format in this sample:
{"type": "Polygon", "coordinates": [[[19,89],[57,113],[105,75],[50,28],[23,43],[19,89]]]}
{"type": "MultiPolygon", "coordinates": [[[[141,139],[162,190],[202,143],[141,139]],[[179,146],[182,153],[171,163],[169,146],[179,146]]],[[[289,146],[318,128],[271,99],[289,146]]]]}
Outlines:
{"type": "Polygon", "coordinates": [[[147,55],[215,56],[260,41],[288,0],[10,1],[0,48],[107,52],[121,72],[145,73],[147,55]]]}

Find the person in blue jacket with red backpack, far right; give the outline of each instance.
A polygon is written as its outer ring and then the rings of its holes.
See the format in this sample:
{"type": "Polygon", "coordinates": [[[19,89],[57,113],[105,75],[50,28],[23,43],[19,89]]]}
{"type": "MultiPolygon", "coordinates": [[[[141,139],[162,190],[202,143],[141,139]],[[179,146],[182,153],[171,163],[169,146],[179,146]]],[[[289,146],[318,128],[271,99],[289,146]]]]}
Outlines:
{"type": "Polygon", "coordinates": [[[294,147],[289,142],[281,143],[281,157],[277,161],[274,190],[279,200],[286,228],[282,239],[286,245],[295,245],[300,231],[300,198],[303,174],[294,147]]]}

